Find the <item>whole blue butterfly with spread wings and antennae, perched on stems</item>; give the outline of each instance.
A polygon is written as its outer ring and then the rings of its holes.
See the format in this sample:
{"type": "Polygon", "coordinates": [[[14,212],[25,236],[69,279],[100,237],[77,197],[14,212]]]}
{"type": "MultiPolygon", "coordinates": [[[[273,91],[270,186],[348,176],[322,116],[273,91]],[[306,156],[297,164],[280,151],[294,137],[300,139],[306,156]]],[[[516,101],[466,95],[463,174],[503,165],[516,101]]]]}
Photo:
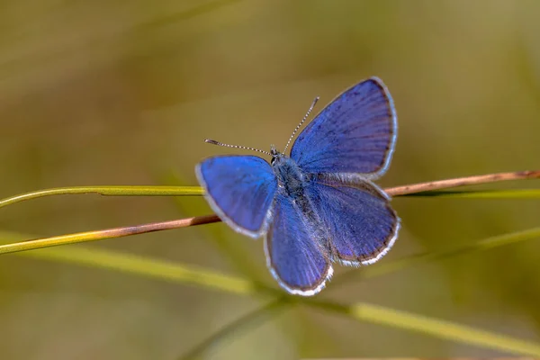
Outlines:
{"type": "Polygon", "coordinates": [[[265,237],[275,280],[289,293],[311,296],[332,276],[332,262],[373,264],[396,240],[400,219],[372,182],[390,166],[396,138],[392,97],[372,77],[329,103],[294,141],[290,157],[274,146],[249,148],[270,155],[270,164],[256,156],[209,157],[196,175],[221,220],[265,237]]]}

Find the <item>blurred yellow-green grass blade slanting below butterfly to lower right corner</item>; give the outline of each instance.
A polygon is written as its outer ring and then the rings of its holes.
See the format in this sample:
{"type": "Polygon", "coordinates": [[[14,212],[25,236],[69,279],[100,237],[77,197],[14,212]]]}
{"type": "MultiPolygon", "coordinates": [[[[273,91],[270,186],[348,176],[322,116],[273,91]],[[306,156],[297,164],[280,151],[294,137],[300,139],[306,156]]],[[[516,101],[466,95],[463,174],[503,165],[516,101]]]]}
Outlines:
{"type": "MultiPolygon", "coordinates": [[[[0,232],[0,241],[4,238],[16,241],[23,238],[23,236],[10,232],[0,232]]],[[[496,244],[493,244],[493,246],[496,246],[496,244]]],[[[221,275],[195,266],[167,263],[147,257],[126,255],[113,251],[81,247],[57,247],[20,254],[25,257],[101,267],[179,284],[193,284],[228,293],[236,293],[238,295],[257,296],[271,294],[279,297],[284,296],[284,293],[280,290],[254,284],[238,277],[221,275]]],[[[535,343],[518,338],[506,337],[489,331],[473,329],[449,321],[434,320],[421,315],[364,303],[347,306],[334,302],[319,302],[312,298],[298,300],[297,302],[345,314],[356,320],[382,324],[397,329],[419,331],[437,338],[450,339],[464,344],[489,347],[520,355],[540,356],[540,345],[535,343]]]]}

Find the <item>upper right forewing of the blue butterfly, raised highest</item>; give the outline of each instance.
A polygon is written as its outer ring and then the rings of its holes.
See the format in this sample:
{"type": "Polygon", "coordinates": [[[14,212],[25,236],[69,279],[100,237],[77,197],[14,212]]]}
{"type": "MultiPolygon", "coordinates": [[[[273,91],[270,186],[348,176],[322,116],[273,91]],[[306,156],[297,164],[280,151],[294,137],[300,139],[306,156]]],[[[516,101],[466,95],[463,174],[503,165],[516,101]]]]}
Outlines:
{"type": "Polygon", "coordinates": [[[375,179],[390,165],[396,136],[392,97],[373,77],[329,103],[298,136],[291,157],[307,173],[375,179]]]}

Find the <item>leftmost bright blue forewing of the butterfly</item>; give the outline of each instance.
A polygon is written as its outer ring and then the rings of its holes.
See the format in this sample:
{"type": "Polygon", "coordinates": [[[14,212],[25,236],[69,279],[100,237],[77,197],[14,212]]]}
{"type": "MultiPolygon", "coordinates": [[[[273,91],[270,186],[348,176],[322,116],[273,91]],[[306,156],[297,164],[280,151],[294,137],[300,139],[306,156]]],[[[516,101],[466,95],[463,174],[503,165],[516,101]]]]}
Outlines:
{"type": "Polygon", "coordinates": [[[209,157],[196,166],[199,183],[221,220],[258,238],[266,232],[277,180],[261,157],[209,157]]]}

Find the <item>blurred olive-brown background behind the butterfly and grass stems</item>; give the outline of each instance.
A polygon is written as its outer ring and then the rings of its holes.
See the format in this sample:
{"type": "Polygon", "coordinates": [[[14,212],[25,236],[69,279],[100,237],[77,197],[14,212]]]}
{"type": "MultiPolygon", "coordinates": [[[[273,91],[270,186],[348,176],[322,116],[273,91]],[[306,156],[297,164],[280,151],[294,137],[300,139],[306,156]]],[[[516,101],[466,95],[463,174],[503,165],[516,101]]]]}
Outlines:
{"type": "MultiPolygon", "coordinates": [[[[383,186],[540,168],[534,0],[6,0],[0,29],[2,198],[68,185],[196,184],[200,159],[230,152],[203,139],[283,148],[316,95],[320,109],[368,76],[388,85],[399,114],[383,186]]],[[[403,228],[382,262],[540,225],[535,200],[393,205],[403,228]]],[[[2,209],[0,229],[52,236],[209,212],[200,197],[60,196],[2,209]]],[[[262,241],[224,224],[81,247],[275,285],[262,241]]],[[[330,284],[320,296],[540,341],[539,250],[532,240],[330,284]]],[[[347,270],[337,267],[335,279],[347,270]]],[[[264,303],[3,256],[0,357],[175,359],[264,303]]],[[[500,355],[299,306],[257,324],[208,358],[500,355]]]]}

